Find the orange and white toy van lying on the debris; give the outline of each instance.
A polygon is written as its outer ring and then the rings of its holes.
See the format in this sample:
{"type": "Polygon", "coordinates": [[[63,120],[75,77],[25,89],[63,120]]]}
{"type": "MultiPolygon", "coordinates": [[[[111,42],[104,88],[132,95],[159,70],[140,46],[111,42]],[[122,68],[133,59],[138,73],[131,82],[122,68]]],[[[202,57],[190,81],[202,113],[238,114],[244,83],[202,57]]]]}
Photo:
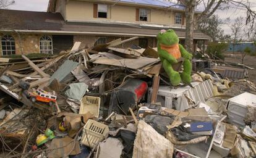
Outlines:
{"type": "Polygon", "coordinates": [[[37,89],[33,92],[28,92],[28,97],[32,102],[41,101],[49,103],[49,106],[53,106],[57,97],[43,89],[37,89]]]}

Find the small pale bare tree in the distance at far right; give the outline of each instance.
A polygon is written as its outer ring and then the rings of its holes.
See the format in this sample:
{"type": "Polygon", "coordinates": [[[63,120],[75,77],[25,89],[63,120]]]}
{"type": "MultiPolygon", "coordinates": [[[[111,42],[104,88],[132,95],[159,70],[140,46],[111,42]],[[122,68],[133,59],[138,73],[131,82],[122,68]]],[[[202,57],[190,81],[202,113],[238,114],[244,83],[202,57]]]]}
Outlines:
{"type": "Polygon", "coordinates": [[[234,47],[237,44],[238,39],[241,39],[240,32],[242,31],[242,28],[245,26],[243,23],[243,18],[242,17],[237,17],[234,20],[234,23],[232,23],[229,27],[231,28],[232,31],[232,46],[233,46],[233,54],[234,54],[234,47]]]}

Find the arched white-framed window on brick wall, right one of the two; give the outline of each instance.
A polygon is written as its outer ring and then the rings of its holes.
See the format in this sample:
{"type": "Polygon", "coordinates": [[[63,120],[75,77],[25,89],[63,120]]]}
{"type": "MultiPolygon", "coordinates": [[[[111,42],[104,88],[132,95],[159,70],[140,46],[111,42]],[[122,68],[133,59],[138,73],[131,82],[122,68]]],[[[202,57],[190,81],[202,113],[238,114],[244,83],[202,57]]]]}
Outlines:
{"type": "Polygon", "coordinates": [[[50,36],[41,36],[39,44],[41,54],[53,54],[53,39],[50,36]]]}

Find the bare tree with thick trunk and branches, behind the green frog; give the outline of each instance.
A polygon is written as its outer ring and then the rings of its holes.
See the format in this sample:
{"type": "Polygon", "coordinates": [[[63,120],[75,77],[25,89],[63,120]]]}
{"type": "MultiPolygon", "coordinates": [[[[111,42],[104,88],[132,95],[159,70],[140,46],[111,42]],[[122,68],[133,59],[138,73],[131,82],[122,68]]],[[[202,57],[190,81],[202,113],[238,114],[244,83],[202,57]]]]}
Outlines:
{"type": "MultiPolygon", "coordinates": [[[[172,1],[172,0],[166,0],[172,1]]],[[[229,7],[236,9],[244,9],[247,11],[245,18],[246,25],[253,27],[256,20],[256,12],[251,9],[249,1],[236,1],[236,0],[178,0],[185,7],[186,17],[186,38],[185,48],[192,52],[193,48],[193,33],[195,28],[195,8],[203,6],[202,13],[198,15],[197,22],[200,20],[208,19],[215,13],[217,9],[229,9],[229,7]]]]}

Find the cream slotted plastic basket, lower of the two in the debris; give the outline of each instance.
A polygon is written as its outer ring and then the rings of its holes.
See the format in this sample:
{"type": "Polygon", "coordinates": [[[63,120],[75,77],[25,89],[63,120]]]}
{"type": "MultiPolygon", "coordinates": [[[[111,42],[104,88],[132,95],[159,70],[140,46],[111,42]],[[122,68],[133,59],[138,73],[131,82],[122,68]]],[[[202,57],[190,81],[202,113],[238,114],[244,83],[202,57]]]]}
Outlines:
{"type": "Polygon", "coordinates": [[[108,136],[109,128],[103,123],[89,119],[83,127],[83,135],[81,142],[90,148],[95,147],[108,136]]]}

